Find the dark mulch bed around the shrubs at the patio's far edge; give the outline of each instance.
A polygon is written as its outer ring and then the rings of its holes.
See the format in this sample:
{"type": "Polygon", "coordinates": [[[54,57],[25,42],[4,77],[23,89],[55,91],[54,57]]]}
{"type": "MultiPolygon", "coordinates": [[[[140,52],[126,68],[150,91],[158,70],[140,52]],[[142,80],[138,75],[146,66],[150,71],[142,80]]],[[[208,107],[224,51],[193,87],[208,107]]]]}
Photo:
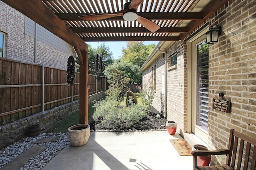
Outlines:
{"type": "MultiPolygon", "coordinates": [[[[99,130],[104,129],[100,125],[95,125],[95,123],[90,123],[91,129],[99,130]]],[[[166,128],[166,119],[164,119],[164,114],[159,113],[153,106],[150,107],[146,117],[142,121],[134,124],[129,129],[136,130],[150,130],[150,129],[165,129],[166,128]],[[160,118],[156,118],[156,115],[159,114],[160,118]]]]}

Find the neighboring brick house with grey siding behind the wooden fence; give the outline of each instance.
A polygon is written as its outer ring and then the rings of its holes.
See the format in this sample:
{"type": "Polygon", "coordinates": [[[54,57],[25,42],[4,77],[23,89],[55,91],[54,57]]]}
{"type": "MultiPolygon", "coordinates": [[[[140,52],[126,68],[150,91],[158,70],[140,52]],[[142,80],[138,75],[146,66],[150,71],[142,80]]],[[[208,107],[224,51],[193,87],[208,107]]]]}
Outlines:
{"type": "Polygon", "coordinates": [[[68,43],[0,1],[0,57],[66,70],[68,43]]]}

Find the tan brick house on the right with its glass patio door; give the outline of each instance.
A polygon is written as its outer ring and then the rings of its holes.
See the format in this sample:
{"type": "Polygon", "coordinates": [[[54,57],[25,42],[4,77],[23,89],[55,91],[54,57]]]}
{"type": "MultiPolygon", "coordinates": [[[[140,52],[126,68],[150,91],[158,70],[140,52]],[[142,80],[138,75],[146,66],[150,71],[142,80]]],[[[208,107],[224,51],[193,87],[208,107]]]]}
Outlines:
{"type": "Polygon", "coordinates": [[[152,106],[210,150],[227,147],[231,128],[256,139],[255,7],[256,1],[228,2],[183,41],[159,42],[140,69],[143,84],[155,84],[152,106]],[[205,33],[215,24],[221,35],[208,45],[205,33]],[[214,99],[230,101],[230,113],[213,108],[214,99]]]}

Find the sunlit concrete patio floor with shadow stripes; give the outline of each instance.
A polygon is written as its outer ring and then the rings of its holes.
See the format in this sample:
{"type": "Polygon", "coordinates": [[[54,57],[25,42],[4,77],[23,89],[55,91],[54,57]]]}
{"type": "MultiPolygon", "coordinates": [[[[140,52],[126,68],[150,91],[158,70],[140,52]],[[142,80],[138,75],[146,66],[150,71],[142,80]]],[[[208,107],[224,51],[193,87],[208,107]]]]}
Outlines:
{"type": "Polygon", "coordinates": [[[180,156],[170,139],[182,137],[167,131],[91,133],[86,145],[69,144],[43,170],[192,170],[192,156],[180,156]]]}

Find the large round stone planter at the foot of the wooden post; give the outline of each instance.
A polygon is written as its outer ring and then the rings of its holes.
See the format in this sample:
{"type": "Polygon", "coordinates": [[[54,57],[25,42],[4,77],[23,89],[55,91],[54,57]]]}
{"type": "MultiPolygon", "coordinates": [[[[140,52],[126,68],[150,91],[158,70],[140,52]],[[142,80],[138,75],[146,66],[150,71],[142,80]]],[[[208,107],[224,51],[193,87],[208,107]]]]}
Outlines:
{"type": "Polygon", "coordinates": [[[81,147],[88,142],[90,137],[90,125],[78,124],[68,128],[68,139],[74,147],[81,147]]]}

